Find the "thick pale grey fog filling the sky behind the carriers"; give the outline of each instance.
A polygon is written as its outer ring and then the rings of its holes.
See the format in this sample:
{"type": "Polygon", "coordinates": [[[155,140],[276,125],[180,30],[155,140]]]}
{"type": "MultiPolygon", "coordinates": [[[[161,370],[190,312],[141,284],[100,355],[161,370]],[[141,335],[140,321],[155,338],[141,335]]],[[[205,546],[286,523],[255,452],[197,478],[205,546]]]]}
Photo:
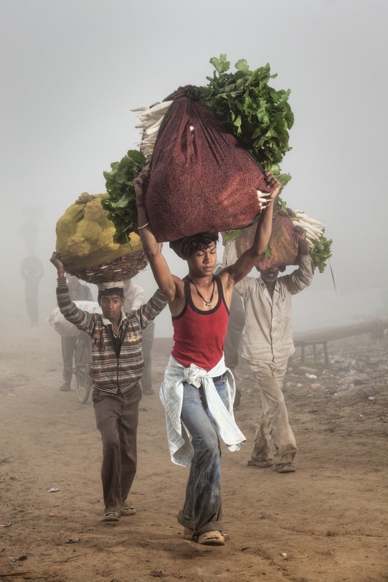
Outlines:
{"type": "MultiPolygon", "coordinates": [[[[48,325],[55,222],[80,193],[105,192],[103,171],[136,148],[130,109],[206,84],[209,59],[221,53],[252,69],[269,62],[272,85],[291,89],[293,149],[281,168],[292,181],[283,198],[333,239],[331,270],[294,298],[294,330],[387,317],[384,0],[12,0],[1,2],[1,15],[0,315],[8,326],[28,321],[20,265],[30,254],[44,265],[39,310],[48,325]]],[[[164,248],[173,272],[186,274],[164,248]]],[[[147,297],[155,290],[149,271],[136,282],[147,297]]],[[[165,310],[156,335],[168,333],[165,310]]]]}

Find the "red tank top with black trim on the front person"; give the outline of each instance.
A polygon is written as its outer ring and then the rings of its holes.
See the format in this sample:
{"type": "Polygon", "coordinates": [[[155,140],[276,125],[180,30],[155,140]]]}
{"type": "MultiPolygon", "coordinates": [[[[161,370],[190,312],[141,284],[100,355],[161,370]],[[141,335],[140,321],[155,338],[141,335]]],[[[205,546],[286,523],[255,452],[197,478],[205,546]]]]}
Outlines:
{"type": "Polygon", "coordinates": [[[172,318],[175,344],[171,355],[186,368],[195,364],[209,371],[218,364],[224,353],[229,309],[220,277],[213,277],[218,288],[217,305],[210,311],[195,307],[191,299],[190,283],[185,277],[185,305],[182,312],[172,318]]]}

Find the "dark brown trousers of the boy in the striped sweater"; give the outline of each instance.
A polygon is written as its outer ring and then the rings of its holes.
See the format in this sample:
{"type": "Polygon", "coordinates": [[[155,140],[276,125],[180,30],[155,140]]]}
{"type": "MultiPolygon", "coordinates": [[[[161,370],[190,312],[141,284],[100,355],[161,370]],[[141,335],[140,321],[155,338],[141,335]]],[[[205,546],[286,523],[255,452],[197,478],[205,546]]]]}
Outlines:
{"type": "Polygon", "coordinates": [[[97,428],[103,441],[101,479],[105,511],[119,511],[136,475],[136,432],[139,421],[139,383],[124,394],[94,389],[97,428]]]}

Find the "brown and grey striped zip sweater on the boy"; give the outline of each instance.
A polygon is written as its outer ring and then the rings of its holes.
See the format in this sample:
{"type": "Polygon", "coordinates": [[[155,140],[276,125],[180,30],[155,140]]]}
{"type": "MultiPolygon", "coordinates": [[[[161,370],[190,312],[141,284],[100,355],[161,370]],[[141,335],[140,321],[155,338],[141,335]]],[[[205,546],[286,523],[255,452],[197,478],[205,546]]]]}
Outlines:
{"type": "MultiPolygon", "coordinates": [[[[91,336],[91,367],[89,374],[99,390],[117,394],[130,390],[144,371],[141,352],[141,330],[145,329],[167,305],[164,294],[157,290],[151,299],[136,311],[123,312],[126,327],[119,357],[112,335],[104,325],[103,315],[87,313],[71,301],[66,277],[58,277],[58,307],[73,325],[91,336]]],[[[105,319],[105,318],[104,318],[105,319]]]]}

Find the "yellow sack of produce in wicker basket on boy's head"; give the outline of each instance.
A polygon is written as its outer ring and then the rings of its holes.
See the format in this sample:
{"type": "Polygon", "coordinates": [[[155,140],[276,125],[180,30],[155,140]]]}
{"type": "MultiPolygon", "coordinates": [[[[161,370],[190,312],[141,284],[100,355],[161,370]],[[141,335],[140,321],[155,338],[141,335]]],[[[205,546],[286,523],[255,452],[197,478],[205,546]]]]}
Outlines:
{"type": "Polygon", "coordinates": [[[81,194],[56,225],[56,251],[64,268],[89,283],[130,279],[147,265],[136,233],[131,232],[124,244],[113,239],[116,229],[101,204],[105,197],[107,194],[81,194]],[[135,256],[129,259],[129,255],[135,256]]]}

